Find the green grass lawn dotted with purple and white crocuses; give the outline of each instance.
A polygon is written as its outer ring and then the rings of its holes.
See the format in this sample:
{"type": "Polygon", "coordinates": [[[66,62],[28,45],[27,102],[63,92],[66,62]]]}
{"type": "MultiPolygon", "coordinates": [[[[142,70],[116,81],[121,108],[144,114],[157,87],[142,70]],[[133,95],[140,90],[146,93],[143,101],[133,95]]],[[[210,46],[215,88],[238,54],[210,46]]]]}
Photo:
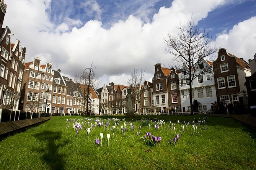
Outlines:
{"type": "Polygon", "coordinates": [[[256,169],[256,132],[233,119],[208,117],[204,125],[199,115],[111,118],[56,116],[9,136],[0,142],[0,169],[256,169]]]}

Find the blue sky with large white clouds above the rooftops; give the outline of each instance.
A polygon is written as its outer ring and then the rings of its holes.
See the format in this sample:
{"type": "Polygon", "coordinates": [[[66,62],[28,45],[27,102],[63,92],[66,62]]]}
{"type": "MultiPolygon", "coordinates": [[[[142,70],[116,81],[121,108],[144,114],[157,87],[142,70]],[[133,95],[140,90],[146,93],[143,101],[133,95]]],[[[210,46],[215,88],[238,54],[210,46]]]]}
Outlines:
{"type": "MultiPolygon", "coordinates": [[[[98,86],[127,85],[135,68],[152,82],[157,63],[169,66],[164,38],[191,19],[216,35],[212,47],[239,58],[256,53],[256,0],[4,0],[3,27],[41,59],[72,78],[93,64],[98,86]]],[[[214,57],[217,56],[217,52],[214,57]]]]}

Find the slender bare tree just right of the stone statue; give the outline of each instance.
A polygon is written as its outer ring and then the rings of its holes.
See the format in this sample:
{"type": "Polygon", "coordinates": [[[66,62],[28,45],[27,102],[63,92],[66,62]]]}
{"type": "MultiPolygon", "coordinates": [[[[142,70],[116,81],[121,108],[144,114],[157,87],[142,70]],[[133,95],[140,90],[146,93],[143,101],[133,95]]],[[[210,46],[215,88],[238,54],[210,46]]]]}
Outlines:
{"type": "Polygon", "coordinates": [[[138,70],[133,68],[133,70],[130,72],[130,77],[127,80],[127,83],[131,85],[132,93],[135,96],[135,103],[139,106],[139,114],[140,114],[140,106],[141,106],[141,100],[142,100],[142,83],[145,80],[145,74],[146,71],[144,70],[138,70]]]}

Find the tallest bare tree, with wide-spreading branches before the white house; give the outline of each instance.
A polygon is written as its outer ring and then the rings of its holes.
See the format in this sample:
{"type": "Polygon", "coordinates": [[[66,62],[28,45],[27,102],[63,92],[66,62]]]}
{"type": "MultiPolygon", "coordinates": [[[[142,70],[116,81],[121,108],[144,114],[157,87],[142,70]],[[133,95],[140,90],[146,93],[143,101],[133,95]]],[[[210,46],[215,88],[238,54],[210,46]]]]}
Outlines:
{"type": "Polygon", "coordinates": [[[209,60],[218,48],[213,48],[210,45],[215,36],[210,35],[205,30],[200,32],[192,18],[186,25],[179,26],[178,29],[178,34],[168,34],[168,37],[165,38],[166,51],[173,55],[173,60],[178,63],[171,66],[179,72],[179,82],[176,83],[189,85],[190,108],[191,115],[193,115],[192,81],[199,75],[213,72],[212,66],[202,68],[200,63],[206,59],[209,60]]]}

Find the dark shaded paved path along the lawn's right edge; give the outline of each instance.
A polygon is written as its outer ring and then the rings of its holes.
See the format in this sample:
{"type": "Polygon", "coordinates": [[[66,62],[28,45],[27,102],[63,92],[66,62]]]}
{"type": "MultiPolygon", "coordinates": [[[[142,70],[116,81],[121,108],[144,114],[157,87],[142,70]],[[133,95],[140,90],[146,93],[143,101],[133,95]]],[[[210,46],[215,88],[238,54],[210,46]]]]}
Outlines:
{"type": "Polygon", "coordinates": [[[250,114],[236,115],[236,114],[208,114],[207,116],[218,116],[218,117],[231,117],[240,122],[245,123],[249,127],[252,127],[256,130],[256,117],[251,116],[250,114]]]}

